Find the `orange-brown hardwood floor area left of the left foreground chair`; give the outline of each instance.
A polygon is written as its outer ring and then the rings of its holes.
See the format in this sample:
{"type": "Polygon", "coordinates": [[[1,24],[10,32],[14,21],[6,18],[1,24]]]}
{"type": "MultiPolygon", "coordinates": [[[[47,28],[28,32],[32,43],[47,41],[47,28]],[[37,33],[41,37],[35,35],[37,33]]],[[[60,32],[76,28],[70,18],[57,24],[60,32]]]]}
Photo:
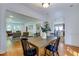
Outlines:
{"type": "Polygon", "coordinates": [[[9,43],[9,47],[7,48],[7,52],[4,54],[0,54],[1,56],[23,56],[23,50],[20,40],[8,40],[11,43],[9,43]]]}

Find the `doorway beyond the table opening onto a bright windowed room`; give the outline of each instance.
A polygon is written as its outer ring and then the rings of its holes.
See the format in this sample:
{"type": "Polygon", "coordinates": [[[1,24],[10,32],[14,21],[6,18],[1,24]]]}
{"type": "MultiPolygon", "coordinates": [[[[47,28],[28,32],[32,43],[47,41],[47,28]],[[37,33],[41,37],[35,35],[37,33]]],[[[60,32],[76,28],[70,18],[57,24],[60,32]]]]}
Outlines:
{"type": "Polygon", "coordinates": [[[65,37],[65,24],[54,24],[54,33],[55,36],[61,37],[61,42],[64,43],[64,37],[65,37]]]}

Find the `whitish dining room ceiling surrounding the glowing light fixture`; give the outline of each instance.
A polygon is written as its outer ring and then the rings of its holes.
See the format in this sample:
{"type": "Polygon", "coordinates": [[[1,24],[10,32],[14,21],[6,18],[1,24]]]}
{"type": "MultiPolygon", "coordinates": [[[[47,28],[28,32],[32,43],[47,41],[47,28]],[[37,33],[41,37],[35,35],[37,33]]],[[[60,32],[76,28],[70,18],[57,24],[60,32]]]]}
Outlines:
{"type": "Polygon", "coordinates": [[[22,5],[24,5],[28,8],[31,8],[31,9],[37,11],[38,13],[48,14],[48,13],[52,12],[53,10],[60,10],[63,8],[74,7],[79,4],[77,4],[77,3],[50,3],[50,6],[48,8],[43,8],[42,3],[23,3],[22,5]]]}

